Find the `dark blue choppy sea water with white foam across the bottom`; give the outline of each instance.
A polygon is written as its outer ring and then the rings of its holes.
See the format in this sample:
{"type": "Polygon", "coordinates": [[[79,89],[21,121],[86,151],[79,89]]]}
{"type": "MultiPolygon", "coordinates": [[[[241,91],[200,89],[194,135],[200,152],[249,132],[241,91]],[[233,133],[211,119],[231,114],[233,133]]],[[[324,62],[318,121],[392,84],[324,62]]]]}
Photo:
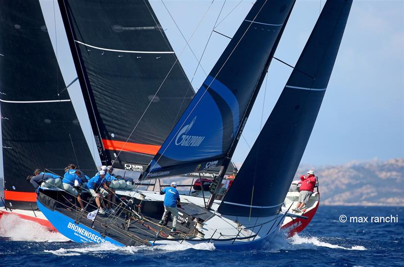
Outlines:
{"type": "Polygon", "coordinates": [[[0,221],[0,266],[404,266],[404,208],[320,206],[304,232],[277,235],[257,250],[223,251],[212,244],[115,247],[77,244],[17,218],[0,221]],[[345,223],[339,217],[345,215],[345,223]],[[349,217],[368,217],[368,223],[349,217]],[[371,217],[398,223],[370,222],[371,217]],[[58,242],[55,242],[58,241],[58,242]]]}

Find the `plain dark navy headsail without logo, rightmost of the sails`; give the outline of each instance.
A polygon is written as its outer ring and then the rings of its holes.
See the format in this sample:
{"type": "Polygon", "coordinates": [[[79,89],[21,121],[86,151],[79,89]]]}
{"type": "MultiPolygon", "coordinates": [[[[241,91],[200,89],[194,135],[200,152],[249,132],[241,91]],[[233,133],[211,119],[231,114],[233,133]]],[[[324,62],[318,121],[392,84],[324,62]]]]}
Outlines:
{"type": "Polygon", "coordinates": [[[313,130],[352,1],[327,1],[275,107],[218,211],[271,216],[286,196],[313,130]]]}

